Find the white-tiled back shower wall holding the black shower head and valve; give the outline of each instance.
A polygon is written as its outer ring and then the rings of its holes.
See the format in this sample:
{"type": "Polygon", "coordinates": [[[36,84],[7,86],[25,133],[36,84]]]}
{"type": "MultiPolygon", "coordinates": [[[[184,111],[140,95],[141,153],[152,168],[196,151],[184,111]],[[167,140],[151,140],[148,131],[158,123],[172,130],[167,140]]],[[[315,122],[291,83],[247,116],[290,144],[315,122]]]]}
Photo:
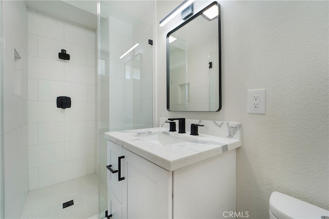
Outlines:
{"type": "Polygon", "coordinates": [[[95,173],[95,30],[28,11],[29,190],[95,173]],[[70,60],[60,60],[66,49],[70,60]],[[71,98],[57,108],[56,98],[71,98]]]}

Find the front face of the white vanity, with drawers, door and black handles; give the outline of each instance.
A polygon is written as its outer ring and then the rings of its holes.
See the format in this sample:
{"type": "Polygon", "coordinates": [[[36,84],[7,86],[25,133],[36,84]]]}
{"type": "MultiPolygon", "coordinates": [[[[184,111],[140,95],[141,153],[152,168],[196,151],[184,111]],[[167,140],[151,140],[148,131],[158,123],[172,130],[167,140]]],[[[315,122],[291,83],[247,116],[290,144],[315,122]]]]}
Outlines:
{"type": "Polygon", "coordinates": [[[112,218],[172,217],[170,171],[112,141],[107,141],[107,164],[118,170],[107,172],[107,211],[112,218]]]}

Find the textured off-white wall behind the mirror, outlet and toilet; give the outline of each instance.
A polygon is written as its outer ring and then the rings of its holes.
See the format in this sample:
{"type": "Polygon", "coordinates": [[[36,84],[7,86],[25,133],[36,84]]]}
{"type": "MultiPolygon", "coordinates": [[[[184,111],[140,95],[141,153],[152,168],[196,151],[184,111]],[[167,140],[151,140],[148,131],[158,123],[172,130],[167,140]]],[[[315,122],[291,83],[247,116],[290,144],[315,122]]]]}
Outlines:
{"type": "MultiPolygon", "coordinates": [[[[156,27],[157,119],[242,123],[236,210],[248,211],[249,218],[268,218],[272,191],[329,209],[328,2],[219,3],[222,110],[167,111],[165,39],[173,21],[156,27]],[[247,90],[258,88],[266,88],[265,115],[247,113],[247,90]]],[[[157,1],[157,22],[177,5],[157,1]]]]}

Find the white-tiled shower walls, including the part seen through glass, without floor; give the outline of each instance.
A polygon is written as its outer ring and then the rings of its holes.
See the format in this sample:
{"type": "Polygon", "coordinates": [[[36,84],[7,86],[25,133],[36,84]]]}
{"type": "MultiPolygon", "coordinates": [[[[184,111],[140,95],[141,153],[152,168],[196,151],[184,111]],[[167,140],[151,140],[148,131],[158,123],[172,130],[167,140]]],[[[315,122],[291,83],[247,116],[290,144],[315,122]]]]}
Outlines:
{"type": "Polygon", "coordinates": [[[125,20],[114,10],[119,5],[99,4],[97,30],[27,8],[24,1],[1,1],[4,218],[21,217],[29,191],[80,178],[96,184],[96,217],[103,217],[103,133],[153,125],[152,25],[133,16],[125,20]],[[119,59],[137,41],[140,46],[119,59]],[[59,59],[61,49],[70,60],[59,59]],[[58,108],[59,96],[70,97],[71,107],[58,108]]]}

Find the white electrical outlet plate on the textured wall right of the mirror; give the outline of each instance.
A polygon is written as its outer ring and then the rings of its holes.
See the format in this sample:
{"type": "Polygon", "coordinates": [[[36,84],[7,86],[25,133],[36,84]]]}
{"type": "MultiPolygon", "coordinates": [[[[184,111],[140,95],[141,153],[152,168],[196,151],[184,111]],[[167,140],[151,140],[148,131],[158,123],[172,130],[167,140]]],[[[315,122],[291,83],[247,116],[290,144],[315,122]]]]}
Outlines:
{"type": "Polygon", "coordinates": [[[248,90],[248,113],[265,114],[266,90],[248,90]]]}

